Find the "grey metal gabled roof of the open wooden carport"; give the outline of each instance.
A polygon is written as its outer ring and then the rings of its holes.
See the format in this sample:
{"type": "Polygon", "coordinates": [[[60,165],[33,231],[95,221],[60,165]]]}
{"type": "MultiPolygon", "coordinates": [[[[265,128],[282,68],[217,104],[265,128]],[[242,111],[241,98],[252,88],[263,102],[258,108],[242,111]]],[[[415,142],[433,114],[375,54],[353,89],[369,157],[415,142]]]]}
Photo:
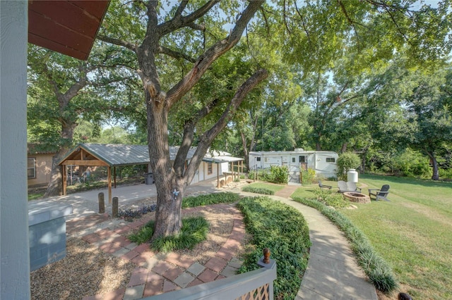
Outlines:
{"type": "MultiPolygon", "coordinates": [[[[169,158],[174,161],[179,146],[169,147],[169,158]]],[[[187,159],[193,157],[196,147],[191,147],[187,159]]],[[[78,144],[59,161],[103,161],[109,166],[144,165],[149,163],[148,145],[131,144],[78,144]],[[85,151],[82,154],[81,149],[85,151]],[[83,157],[81,157],[83,155],[83,157]]]]}

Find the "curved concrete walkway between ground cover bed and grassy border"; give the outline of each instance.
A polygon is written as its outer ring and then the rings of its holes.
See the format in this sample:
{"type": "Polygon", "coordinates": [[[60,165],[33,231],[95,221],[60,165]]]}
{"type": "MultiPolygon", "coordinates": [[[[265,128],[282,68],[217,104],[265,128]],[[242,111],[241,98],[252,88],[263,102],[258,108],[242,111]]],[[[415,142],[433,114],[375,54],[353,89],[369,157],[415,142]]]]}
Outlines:
{"type": "Polygon", "coordinates": [[[308,267],[295,299],[378,299],[374,285],[364,279],[343,232],[315,208],[278,196],[295,189],[289,185],[272,197],[297,208],[309,226],[308,267]]]}

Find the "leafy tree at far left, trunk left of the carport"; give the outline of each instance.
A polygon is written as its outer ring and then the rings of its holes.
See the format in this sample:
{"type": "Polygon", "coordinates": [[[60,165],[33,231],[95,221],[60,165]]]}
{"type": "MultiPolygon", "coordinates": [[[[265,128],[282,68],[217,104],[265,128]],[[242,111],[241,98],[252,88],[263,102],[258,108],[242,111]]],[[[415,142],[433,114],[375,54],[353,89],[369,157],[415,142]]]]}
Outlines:
{"type": "Polygon", "coordinates": [[[103,119],[137,106],[133,103],[139,99],[128,96],[135,84],[126,80],[133,63],[117,50],[96,44],[85,62],[29,45],[28,140],[41,149],[57,151],[44,196],[61,192],[57,163],[73,146],[80,120],[100,125],[103,119]],[[119,90],[121,94],[115,95],[119,90]]]}

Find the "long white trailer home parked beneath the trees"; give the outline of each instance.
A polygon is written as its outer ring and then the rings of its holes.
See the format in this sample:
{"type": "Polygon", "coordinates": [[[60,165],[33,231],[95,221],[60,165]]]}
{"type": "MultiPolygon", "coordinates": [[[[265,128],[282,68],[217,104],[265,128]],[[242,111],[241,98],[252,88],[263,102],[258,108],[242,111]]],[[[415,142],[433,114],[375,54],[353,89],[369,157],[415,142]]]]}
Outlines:
{"type": "Polygon", "coordinates": [[[316,175],[336,177],[338,154],[333,151],[304,151],[297,148],[294,151],[251,151],[249,153],[249,168],[266,169],[271,165],[287,165],[289,181],[299,182],[300,170],[311,168],[316,175]]]}

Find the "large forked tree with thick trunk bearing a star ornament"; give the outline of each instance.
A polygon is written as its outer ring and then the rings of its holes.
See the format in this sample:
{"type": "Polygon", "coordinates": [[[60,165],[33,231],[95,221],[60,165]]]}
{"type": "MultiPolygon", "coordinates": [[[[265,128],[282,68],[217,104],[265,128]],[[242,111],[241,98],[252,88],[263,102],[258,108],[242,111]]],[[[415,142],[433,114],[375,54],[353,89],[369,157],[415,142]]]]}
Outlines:
{"type": "MultiPolygon", "coordinates": [[[[237,3],[220,1],[136,1],[119,4],[112,2],[98,36],[105,42],[124,47],[136,55],[138,75],[143,82],[147,106],[148,148],[150,166],[155,174],[157,211],[154,236],[176,235],[182,227],[182,199],[187,185],[193,179],[203,156],[213,139],[232,119],[246,94],[266,78],[267,72],[258,69],[238,87],[222,115],[213,126],[200,134],[194,156],[186,165],[187,154],[194,142],[194,130],[199,120],[208,115],[222,99],[210,99],[184,122],[182,144],[172,162],[169,157],[168,114],[187,93],[195,87],[213,63],[227,53],[241,39],[246,25],[261,8],[263,1],[250,1],[244,8],[237,3]],[[218,7],[220,6],[220,7],[218,7]],[[219,10],[222,8],[222,10],[219,10]],[[169,13],[165,14],[165,11],[169,13]],[[234,13],[232,27],[227,32],[215,30],[213,13],[234,13]],[[213,25],[207,28],[206,25],[213,25]],[[212,32],[214,32],[212,34],[212,32]],[[219,33],[219,34],[218,34],[219,33]],[[187,38],[188,37],[188,38],[187,38]],[[179,44],[175,44],[178,41],[179,44]],[[202,42],[200,42],[202,41],[202,42]],[[182,44],[183,43],[183,44],[182,44]],[[179,49],[177,48],[179,46],[179,49]],[[159,72],[165,58],[189,61],[191,66],[174,82],[162,85],[159,72]]],[[[215,16],[215,15],[214,15],[215,16]]],[[[218,26],[218,24],[216,24],[218,26]]],[[[221,25],[220,25],[221,26],[221,25]]]]}

